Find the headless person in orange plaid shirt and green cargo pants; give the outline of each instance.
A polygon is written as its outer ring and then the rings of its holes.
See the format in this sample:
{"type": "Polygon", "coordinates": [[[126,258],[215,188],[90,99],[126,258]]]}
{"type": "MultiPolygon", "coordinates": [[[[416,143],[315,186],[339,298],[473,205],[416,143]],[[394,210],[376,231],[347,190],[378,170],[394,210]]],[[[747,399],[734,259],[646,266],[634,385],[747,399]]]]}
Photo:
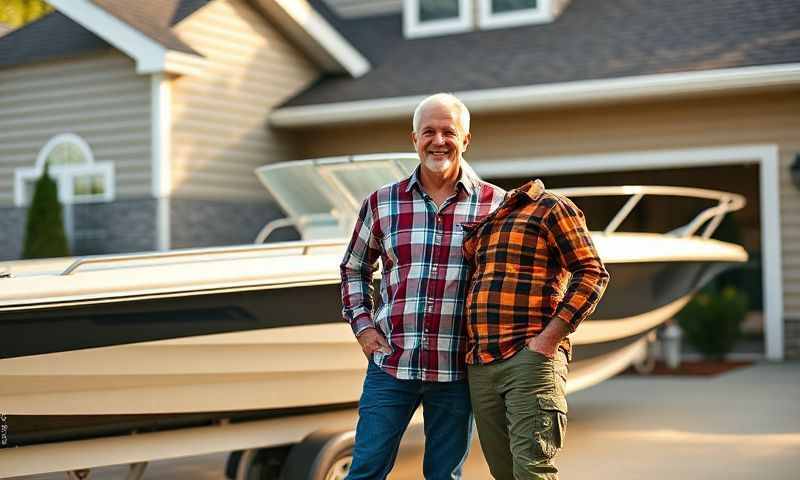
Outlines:
{"type": "Polygon", "coordinates": [[[608,272],[583,213],[539,180],[463,227],[473,268],[466,362],[484,456],[498,480],[555,480],[567,422],[567,335],[594,311],[608,272]]]}

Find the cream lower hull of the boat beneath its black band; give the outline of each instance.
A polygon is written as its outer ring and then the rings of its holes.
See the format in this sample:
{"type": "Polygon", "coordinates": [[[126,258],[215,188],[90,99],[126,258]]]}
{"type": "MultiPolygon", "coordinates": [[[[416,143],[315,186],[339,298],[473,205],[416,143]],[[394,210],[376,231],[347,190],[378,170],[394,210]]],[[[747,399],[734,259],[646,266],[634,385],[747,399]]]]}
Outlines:
{"type": "MultiPolygon", "coordinates": [[[[646,333],[688,298],[629,319],[587,321],[582,345],[629,345],[571,365],[569,391],[624,370],[646,333]],[[627,359],[622,361],[621,359],[627,359]],[[588,366],[591,365],[591,368],[588,366]]],[[[0,360],[10,415],[121,415],[279,410],[355,403],[366,359],[345,323],[282,327],[0,360]]]]}

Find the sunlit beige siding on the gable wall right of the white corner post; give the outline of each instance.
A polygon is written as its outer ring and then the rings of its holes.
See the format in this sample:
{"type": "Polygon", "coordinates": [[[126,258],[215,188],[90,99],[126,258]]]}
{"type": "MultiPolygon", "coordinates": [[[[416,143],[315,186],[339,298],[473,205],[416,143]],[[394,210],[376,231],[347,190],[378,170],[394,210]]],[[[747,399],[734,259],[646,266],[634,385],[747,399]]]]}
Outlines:
{"type": "Polygon", "coordinates": [[[267,127],[269,112],[318,70],[241,0],[212,2],[176,32],[208,66],[172,83],[174,195],[265,199],[253,169],[297,157],[291,137],[267,127]]]}

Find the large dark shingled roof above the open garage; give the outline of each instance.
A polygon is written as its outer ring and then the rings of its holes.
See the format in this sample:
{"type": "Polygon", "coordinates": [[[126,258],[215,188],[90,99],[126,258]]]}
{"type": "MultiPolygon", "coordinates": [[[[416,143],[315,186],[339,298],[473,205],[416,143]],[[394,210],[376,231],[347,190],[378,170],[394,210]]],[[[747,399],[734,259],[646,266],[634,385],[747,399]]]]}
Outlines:
{"type": "Polygon", "coordinates": [[[372,64],[284,107],[800,62],[796,0],[573,0],[553,23],[405,39],[402,16],[337,17],[372,64]]]}

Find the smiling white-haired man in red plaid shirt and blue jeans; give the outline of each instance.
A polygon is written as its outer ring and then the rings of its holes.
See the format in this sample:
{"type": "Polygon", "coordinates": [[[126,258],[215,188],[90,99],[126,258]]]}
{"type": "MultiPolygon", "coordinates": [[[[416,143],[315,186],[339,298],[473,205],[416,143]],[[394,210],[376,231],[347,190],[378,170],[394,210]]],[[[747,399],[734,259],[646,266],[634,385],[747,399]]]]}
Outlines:
{"type": "Polygon", "coordinates": [[[420,404],[425,477],[461,477],[472,430],[461,223],[489,214],[505,193],[480,181],[463,161],[469,119],[452,95],[433,95],[417,106],[411,141],[420,165],[364,200],[342,261],[343,315],[369,364],[351,480],[386,478],[420,404]],[[378,260],[382,305],[373,312],[378,260]]]}

